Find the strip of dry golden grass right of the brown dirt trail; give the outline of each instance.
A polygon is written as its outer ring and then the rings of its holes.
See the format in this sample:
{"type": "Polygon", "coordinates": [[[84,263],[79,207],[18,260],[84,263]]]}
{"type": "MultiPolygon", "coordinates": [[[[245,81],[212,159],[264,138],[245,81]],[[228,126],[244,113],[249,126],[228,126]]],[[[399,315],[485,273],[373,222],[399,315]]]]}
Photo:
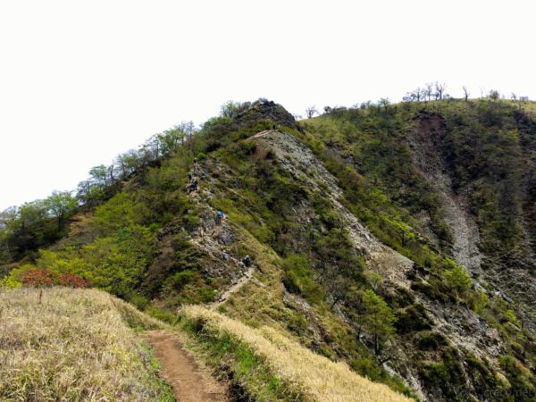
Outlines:
{"type": "Polygon", "coordinates": [[[228,333],[246,343],[272,367],[281,379],[294,384],[307,399],[322,402],[409,401],[383,384],[352,372],[347,364],[315,355],[297,342],[268,327],[254,329],[201,306],[181,310],[190,320],[205,322],[205,328],[228,333]]]}

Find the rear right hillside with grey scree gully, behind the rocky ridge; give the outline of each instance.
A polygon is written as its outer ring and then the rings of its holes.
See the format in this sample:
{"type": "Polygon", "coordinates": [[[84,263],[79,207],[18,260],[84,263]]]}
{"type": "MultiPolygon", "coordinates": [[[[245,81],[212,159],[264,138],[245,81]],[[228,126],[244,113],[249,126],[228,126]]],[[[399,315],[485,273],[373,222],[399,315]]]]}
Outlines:
{"type": "Polygon", "coordinates": [[[406,221],[434,247],[523,305],[533,322],[536,128],[529,106],[410,104],[339,111],[308,124],[337,158],[411,214],[415,222],[406,221]]]}

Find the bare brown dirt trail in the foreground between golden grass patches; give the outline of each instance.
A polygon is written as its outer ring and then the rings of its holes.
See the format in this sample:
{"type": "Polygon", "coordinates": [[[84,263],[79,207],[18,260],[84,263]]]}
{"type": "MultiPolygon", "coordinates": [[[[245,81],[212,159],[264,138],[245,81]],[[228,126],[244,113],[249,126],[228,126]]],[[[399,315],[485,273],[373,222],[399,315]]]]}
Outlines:
{"type": "Polygon", "coordinates": [[[168,331],[147,331],[148,343],[162,364],[165,381],[172,385],[180,402],[225,402],[229,400],[225,386],[205,373],[182,346],[178,337],[168,331]]]}

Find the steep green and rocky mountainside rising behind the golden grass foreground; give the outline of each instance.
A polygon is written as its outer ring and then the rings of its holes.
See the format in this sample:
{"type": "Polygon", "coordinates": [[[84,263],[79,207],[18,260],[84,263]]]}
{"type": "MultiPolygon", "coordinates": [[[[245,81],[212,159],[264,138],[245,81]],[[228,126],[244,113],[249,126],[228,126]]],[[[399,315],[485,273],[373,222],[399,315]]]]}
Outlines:
{"type": "Polygon", "coordinates": [[[410,397],[534,398],[531,112],[329,112],[297,122],[267,101],[228,105],[88,193],[69,234],[7,266],[4,285],[68,272],[171,322],[199,304],[270,327],[410,397]]]}

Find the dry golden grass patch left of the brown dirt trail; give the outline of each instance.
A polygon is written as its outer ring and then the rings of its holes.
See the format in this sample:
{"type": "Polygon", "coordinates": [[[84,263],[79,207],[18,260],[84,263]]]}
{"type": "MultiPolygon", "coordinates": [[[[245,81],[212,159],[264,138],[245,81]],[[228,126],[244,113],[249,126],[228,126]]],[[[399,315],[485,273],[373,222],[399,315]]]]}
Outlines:
{"type": "Polygon", "coordinates": [[[161,324],[94,289],[0,289],[0,400],[172,400],[134,324],[161,324]]]}

